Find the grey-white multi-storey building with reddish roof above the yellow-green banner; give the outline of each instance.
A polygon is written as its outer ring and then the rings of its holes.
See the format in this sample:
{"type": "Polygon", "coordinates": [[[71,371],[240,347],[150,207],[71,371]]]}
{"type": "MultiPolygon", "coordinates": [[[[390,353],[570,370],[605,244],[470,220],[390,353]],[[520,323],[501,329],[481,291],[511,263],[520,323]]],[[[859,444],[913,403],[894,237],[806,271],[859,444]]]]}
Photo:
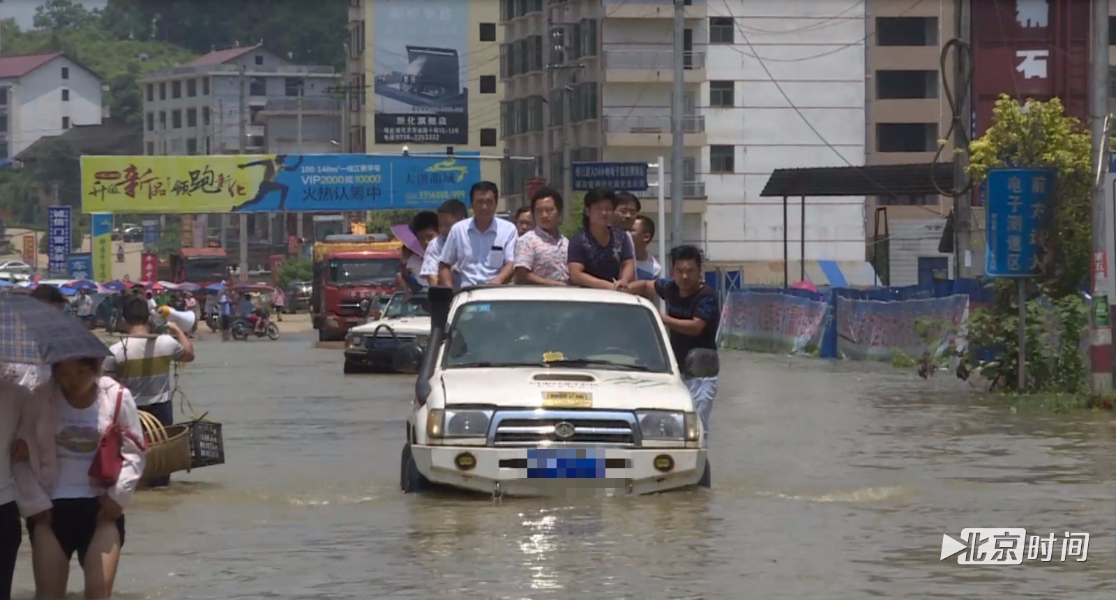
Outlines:
{"type": "MultiPolygon", "coordinates": [[[[147,74],[140,84],[145,153],[204,155],[264,152],[269,116],[292,115],[300,94],[319,112],[337,105],[340,77],[333,67],[295,65],[256,45],[214,50],[185,65],[147,74]]],[[[336,130],[311,127],[304,137],[306,152],[333,152],[336,135],[336,130]]]]}

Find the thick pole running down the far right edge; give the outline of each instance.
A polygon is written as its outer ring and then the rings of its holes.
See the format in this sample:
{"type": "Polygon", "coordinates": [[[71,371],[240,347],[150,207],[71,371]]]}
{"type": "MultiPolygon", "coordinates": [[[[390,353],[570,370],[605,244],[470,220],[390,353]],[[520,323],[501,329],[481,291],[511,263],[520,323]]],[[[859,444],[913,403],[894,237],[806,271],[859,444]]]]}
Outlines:
{"type": "Polygon", "coordinates": [[[1113,330],[1108,298],[1112,255],[1108,253],[1108,226],[1113,214],[1106,210],[1105,170],[1108,163],[1108,0],[1093,0],[1093,62],[1090,67],[1089,117],[1093,133],[1095,187],[1093,190],[1093,343],[1089,351],[1094,397],[1113,394],[1113,330]]]}

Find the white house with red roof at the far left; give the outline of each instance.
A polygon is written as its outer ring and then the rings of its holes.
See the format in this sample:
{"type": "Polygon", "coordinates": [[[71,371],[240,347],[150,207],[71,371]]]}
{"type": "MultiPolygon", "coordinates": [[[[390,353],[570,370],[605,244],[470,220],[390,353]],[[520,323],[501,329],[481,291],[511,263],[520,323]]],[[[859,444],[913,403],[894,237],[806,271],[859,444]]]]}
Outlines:
{"type": "Polygon", "coordinates": [[[0,161],[75,125],[99,125],[100,78],[62,52],[0,56],[0,161]]]}

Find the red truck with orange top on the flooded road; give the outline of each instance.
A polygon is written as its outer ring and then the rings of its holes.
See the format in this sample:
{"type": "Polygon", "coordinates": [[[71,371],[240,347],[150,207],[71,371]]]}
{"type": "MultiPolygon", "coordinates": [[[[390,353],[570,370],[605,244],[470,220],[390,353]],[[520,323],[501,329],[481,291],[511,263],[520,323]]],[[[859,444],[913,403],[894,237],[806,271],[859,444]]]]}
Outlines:
{"type": "Polygon", "coordinates": [[[368,313],[372,299],[395,289],[402,244],[352,238],[329,235],[314,246],[310,314],[321,341],[345,339],[368,313]]]}

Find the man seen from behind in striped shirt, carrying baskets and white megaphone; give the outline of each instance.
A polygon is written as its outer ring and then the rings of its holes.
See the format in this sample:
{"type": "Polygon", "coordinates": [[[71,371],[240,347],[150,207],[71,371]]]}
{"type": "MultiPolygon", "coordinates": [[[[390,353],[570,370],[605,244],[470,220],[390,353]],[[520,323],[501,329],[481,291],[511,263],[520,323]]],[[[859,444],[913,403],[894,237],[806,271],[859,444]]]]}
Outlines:
{"type": "MultiPolygon", "coordinates": [[[[152,338],[148,329],[151,313],[142,298],[129,298],[125,302],[124,322],[128,337],[108,348],[105,375],[132,393],[136,408],[150,413],[165,426],[173,425],[171,371],[174,362],[191,362],[194,359],[194,345],[173,321],[166,323],[170,335],[152,338]]],[[[153,480],[151,486],[162,487],[170,481],[170,477],[153,480]]]]}

